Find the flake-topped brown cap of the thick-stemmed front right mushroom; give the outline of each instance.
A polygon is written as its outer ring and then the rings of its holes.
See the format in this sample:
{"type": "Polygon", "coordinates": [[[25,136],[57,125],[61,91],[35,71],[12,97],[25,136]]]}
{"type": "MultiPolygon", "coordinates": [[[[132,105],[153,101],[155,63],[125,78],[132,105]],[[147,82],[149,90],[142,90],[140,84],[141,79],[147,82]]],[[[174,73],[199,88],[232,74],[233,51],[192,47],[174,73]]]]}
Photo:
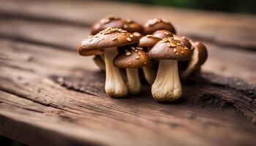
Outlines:
{"type": "Polygon", "coordinates": [[[181,41],[167,37],[157,42],[148,53],[148,57],[154,59],[170,59],[184,61],[192,56],[192,50],[185,46],[181,41]]]}

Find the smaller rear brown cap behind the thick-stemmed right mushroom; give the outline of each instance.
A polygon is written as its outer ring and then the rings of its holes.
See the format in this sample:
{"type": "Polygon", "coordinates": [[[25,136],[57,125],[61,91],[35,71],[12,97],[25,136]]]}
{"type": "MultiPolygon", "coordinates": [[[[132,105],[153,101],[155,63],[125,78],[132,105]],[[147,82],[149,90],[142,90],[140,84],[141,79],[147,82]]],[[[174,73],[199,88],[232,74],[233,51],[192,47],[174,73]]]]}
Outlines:
{"type": "Polygon", "coordinates": [[[153,34],[154,31],[158,31],[158,30],[167,30],[173,34],[176,34],[176,30],[173,27],[173,25],[164,19],[154,18],[154,19],[148,20],[144,24],[144,33],[145,34],[153,34]]]}

